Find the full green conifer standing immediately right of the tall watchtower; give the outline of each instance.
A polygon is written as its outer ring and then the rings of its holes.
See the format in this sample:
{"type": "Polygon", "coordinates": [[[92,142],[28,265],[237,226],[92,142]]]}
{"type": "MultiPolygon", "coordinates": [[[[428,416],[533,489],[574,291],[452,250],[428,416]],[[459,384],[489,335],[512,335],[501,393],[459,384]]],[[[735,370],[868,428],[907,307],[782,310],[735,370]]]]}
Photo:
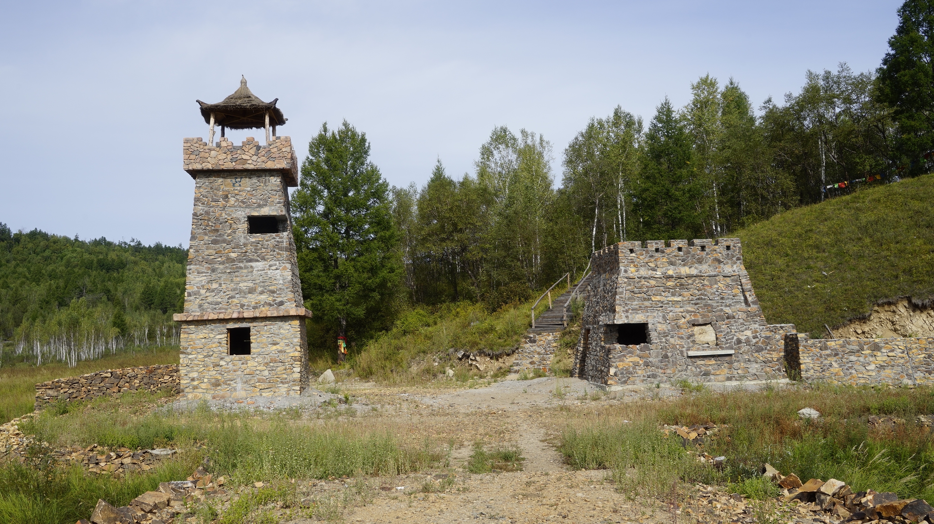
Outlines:
{"type": "Polygon", "coordinates": [[[385,313],[402,276],[389,184],[369,157],[365,134],[347,120],[336,131],[325,122],[308,144],[292,199],[305,304],[345,338],[385,313]]]}

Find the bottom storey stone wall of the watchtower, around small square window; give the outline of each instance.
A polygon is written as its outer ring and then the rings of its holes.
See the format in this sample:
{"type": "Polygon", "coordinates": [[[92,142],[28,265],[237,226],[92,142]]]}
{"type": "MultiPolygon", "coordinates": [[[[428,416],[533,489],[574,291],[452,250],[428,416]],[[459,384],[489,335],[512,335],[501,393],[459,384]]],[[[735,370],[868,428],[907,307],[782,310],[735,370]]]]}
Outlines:
{"type": "Polygon", "coordinates": [[[185,322],[180,388],[190,400],[298,395],[308,387],[304,318],[185,322]],[[250,328],[249,355],[230,355],[227,329],[250,328]]]}

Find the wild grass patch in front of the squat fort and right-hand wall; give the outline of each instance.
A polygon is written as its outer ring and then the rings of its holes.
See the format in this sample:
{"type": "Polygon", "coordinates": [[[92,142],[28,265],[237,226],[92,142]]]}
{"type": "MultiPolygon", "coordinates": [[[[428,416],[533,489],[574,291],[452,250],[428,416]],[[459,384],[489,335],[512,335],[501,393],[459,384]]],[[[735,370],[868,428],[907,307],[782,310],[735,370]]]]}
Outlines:
{"type": "Polygon", "coordinates": [[[854,491],[894,491],[902,499],[934,502],[934,444],[929,428],[913,423],[934,413],[934,389],[919,387],[709,390],[674,401],[646,401],[601,407],[601,416],[570,413],[560,451],[574,468],[614,470],[622,489],[662,493],[672,481],[732,482],[747,496],[771,493],[757,484],[758,469],[769,462],[783,474],[837,478],[854,491]],[[802,420],[798,410],[822,415],[802,420]],[[903,424],[870,426],[872,414],[898,415],[903,424]],[[633,423],[621,423],[620,419],[633,423]],[[720,426],[716,438],[687,444],[662,424],[720,426]],[[691,453],[693,452],[693,454],[691,453]],[[724,456],[722,467],[696,459],[724,456]]]}

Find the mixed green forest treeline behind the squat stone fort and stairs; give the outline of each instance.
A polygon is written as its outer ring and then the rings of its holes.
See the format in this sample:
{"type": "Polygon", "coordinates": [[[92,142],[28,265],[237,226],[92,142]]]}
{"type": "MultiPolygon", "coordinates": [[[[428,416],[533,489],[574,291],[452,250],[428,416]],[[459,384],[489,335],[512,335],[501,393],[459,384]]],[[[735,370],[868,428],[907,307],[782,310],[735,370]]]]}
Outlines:
{"type": "Polygon", "coordinates": [[[579,276],[593,250],[621,240],[729,236],[911,175],[877,89],[875,73],[841,64],[808,71],[800,92],[757,114],[736,80],[704,76],[686,106],[666,98],[647,124],[621,106],[589,120],[559,159],[543,136],[497,127],[473,173],[450,177],[438,160],[422,187],[392,189],[408,298],[496,307],[579,276]]]}

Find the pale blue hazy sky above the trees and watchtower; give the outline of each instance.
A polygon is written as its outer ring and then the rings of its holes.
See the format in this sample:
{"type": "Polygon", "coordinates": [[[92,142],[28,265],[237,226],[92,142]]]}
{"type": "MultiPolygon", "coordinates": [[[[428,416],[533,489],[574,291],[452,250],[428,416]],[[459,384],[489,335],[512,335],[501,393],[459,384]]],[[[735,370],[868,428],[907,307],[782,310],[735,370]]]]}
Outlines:
{"type": "MultiPolygon", "coordinates": [[[[473,172],[496,125],[561,151],[621,105],[651,119],[710,73],[756,106],[807,69],[877,67],[900,2],[11,2],[0,18],[0,221],[188,245],[194,100],[245,75],[304,153],[322,121],[365,132],[391,184],[435,158],[473,172]]],[[[262,130],[233,132],[234,140],[262,130]]]]}

